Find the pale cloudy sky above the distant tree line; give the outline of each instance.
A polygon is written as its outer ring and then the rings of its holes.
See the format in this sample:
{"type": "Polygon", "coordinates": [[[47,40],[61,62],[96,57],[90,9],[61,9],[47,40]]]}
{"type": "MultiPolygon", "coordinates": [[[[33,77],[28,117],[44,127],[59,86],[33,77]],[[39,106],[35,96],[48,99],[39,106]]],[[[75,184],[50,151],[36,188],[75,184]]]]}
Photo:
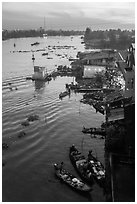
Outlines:
{"type": "Polygon", "coordinates": [[[3,2],[2,29],[135,29],[135,3],[3,2]]]}

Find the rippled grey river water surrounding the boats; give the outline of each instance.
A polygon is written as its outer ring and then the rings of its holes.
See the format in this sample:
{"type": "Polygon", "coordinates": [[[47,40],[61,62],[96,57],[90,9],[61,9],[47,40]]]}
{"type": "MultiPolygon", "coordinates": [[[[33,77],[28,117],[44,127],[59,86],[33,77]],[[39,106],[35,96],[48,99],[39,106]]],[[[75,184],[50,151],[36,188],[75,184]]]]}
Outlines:
{"type": "Polygon", "coordinates": [[[52,59],[42,56],[43,52],[34,52],[35,65],[46,66],[47,71],[57,65],[70,65],[68,57],[75,57],[78,51],[84,50],[80,36],[2,42],[2,139],[9,145],[2,153],[5,164],[2,199],[6,202],[103,202],[103,189],[96,183],[90,195],[83,196],[54,175],[53,164],[63,161],[65,168],[78,176],[68,156],[72,144],[85,155],[92,149],[104,164],[104,140],[81,132],[83,125],[99,127],[104,116],[96,113],[92,106],[80,103],[82,94],[71,93],[70,97],[59,99],[65,84],[75,80],[72,77],[57,77],[49,83],[26,80],[26,76],[33,74],[32,53],[16,51],[43,48],[52,59]],[[31,43],[36,41],[40,44],[32,47],[31,43]],[[63,45],[72,47],[64,49],[63,45]],[[21,122],[31,114],[37,114],[39,120],[22,126],[21,122]],[[21,131],[26,135],[19,138],[21,131]]]}

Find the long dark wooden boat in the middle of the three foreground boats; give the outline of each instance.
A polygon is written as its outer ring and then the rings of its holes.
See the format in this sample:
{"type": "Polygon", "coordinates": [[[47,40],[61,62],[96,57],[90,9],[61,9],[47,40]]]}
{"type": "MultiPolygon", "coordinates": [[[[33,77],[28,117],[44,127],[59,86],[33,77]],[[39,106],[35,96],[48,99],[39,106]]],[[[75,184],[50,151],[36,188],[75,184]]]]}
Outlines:
{"type": "Polygon", "coordinates": [[[85,156],[82,155],[77,149],[73,150],[73,148],[70,147],[69,157],[80,177],[89,184],[93,184],[94,180],[92,172],[88,168],[88,161],[85,156]]]}

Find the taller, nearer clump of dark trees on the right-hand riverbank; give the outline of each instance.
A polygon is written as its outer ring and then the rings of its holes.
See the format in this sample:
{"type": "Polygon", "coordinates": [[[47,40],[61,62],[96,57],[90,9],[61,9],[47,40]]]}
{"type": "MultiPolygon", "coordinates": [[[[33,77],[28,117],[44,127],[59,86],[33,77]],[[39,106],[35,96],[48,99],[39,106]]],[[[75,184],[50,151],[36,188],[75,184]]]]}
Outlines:
{"type": "Polygon", "coordinates": [[[84,41],[87,48],[127,49],[132,42],[135,42],[135,30],[92,31],[88,27],[85,31],[84,41]]]}

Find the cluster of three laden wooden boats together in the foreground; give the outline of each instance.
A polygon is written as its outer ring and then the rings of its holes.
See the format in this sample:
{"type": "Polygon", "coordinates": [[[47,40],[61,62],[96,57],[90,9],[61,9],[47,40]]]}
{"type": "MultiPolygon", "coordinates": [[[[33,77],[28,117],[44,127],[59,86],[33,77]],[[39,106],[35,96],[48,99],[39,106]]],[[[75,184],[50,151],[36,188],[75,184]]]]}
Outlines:
{"type": "Polygon", "coordinates": [[[80,192],[90,192],[97,182],[105,188],[105,169],[103,164],[93,156],[92,150],[85,157],[73,144],[69,148],[69,158],[81,179],[64,168],[64,163],[54,164],[56,176],[64,183],[80,192]]]}

